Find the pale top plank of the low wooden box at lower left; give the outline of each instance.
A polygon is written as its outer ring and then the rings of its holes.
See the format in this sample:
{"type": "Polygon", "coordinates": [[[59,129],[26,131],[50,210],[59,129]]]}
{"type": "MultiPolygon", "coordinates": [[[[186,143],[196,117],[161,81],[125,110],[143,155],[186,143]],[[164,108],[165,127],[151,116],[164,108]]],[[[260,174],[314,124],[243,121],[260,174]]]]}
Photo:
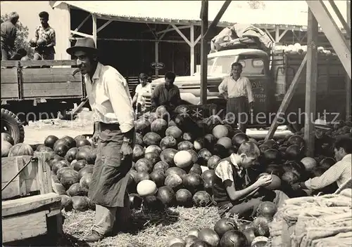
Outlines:
{"type": "Polygon", "coordinates": [[[16,215],[18,213],[25,213],[27,211],[49,205],[51,203],[58,203],[59,201],[61,201],[61,197],[54,192],[2,201],[1,213],[2,217],[16,215]]]}

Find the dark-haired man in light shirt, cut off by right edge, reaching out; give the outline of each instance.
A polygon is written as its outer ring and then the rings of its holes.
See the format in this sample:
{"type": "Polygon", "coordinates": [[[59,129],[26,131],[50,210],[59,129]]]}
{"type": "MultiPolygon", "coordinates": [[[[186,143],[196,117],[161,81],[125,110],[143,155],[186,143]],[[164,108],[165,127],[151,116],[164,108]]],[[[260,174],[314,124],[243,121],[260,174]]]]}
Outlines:
{"type": "Polygon", "coordinates": [[[351,179],[351,153],[352,139],[341,138],[334,143],[334,153],[337,163],[330,167],[319,177],[310,178],[306,182],[298,182],[292,185],[293,189],[323,189],[334,182],[341,187],[344,182],[351,179]]]}

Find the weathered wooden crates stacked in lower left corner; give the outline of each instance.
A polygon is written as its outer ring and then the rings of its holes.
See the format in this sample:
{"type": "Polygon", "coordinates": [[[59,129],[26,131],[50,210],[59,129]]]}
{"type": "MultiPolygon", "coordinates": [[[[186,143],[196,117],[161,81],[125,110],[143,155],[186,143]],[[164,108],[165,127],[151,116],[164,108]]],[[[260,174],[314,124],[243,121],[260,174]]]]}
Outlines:
{"type": "Polygon", "coordinates": [[[61,197],[52,192],[49,157],[48,152],[36,152],[1,158],[1,190],[29,163],[1,193],[4,243],[62,233],[61,197]]]}

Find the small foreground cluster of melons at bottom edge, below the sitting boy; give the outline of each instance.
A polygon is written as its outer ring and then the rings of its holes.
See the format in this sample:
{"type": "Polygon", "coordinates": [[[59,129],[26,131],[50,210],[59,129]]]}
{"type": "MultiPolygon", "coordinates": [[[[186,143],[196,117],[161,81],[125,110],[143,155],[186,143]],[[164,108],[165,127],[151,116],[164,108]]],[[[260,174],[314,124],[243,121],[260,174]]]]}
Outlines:
{"type": "Polygon", "coordinates": [[[267,246],[270,236],[268,224],[276,212],[275,203],[263,201],[253,222],[221,218],[213,228],[191,228],[184,239],[169,239],[168,247],[267,246]]]}

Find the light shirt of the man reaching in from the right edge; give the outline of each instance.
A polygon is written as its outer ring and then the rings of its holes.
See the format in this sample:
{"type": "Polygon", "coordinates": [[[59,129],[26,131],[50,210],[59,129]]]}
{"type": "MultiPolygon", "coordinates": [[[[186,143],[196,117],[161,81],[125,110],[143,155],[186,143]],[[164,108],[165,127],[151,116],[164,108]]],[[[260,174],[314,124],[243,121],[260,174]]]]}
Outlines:
{"type": "Polygon", "coordinates": [[[344,156],[341,161],[330,167],[320,177],[310,178],[304,184],[308,189],[322,189],[337,182],[337,186],[341,187],[347,180],[351,179],[351,154],[344,156]]]}

